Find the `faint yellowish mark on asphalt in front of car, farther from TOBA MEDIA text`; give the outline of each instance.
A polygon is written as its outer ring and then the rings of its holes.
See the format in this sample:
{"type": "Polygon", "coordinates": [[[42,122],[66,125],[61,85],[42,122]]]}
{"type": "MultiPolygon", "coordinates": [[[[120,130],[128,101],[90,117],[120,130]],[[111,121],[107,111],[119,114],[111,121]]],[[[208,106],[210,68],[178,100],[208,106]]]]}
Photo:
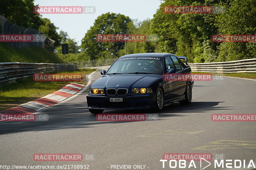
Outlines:
{"type": "MultiPolygon", "coordinates": [[[[179,129],[183,130],[183,129],[179,129]]],[[[167,133],[159,133],[159,134],[144,134],[144,135],[139,135],[139,137],[172,137],[173,135],[193,135],[201,132],[205,132],[206,130],[201,130],[201,131],[195,131],[195,132],[182,132],[179,130],[167,130],[164,132],[167,133]]]]}

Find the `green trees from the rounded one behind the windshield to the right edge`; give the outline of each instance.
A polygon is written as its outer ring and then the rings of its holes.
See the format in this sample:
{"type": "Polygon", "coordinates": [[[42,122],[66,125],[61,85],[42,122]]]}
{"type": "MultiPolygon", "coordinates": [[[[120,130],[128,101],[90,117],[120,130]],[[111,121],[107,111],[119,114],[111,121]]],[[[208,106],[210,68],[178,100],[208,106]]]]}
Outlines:
{"type": "MultiPolygon", "coordinates": [[[[214,43],[212,35],[256,33],[255,0],[163,0],[153,19],[126,24],[127,34],[157,34],[159,41],[128,42],[126,54],[143,52],[167,52],[187,56],[190,62],[204,63],[231,61],[256,56],[255,43],[214,43]],[[223,13],[164,13],[164,6],[222,6],[223,13]]],[[[113,15],[106,13],[95,20],[94,26],[85,34],[82,47],[91,59],[124,55],[124,43],[96,42],[97,34],[124,34],[113,29],[113,15]],[[112,18],[111,18],[112,17],[112,18]]],[[[120,24],[120,23],[119,23],[120,24]]],[[[87,57],[87,58],[90,58],[87,57]]]]}

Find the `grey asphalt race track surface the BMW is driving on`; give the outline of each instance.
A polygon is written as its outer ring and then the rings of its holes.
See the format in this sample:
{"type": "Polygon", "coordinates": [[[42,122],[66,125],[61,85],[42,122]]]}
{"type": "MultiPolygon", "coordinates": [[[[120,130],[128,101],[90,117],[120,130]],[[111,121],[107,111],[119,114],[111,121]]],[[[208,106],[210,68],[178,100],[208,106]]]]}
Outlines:
{"type": "MultiPolygon", "coordinates": [[[[92,81],[101,76],[100,71],[93,75],[92,81]]],[[[195,81],[192,103],[167,106],[158,112],[159,120],[97,121],[87,109],[86,89],[39,113],[48,114],[48,121],[0,123],[0,165],[89,165],[93,170],[111,169],[111,165],[146,165],[145,169],[158,170],[162,169],[160,159],[164,153],[217,153],[226,159],[245,159],[246,164],[252,159],[256,163],[255,122],[211,120],[214,113],[255,113],[256,81],[217,78],[220,77],[195,81]],[[95,157],[79,162],[44,162],[33,160],[36,153],[81,153],[95,157]]],[[[200,169],[199,162],[196,161],[196,169],[200,169]]],[[[171,169],[168,165],[164,169],[171,169]]]]}

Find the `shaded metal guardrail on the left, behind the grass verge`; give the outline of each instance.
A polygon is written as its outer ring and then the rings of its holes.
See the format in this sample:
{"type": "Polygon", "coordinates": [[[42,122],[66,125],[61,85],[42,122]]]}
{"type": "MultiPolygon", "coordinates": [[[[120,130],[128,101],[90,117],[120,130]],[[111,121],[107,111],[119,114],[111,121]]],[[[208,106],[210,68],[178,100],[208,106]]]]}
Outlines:
{"type": "Polygon", "coordinates": [[[71,64],[20,62],[0,63],[0,85],[17,79],[31,77],[35,73],[74,71],[76,69],[76,65],[71,64]]]}

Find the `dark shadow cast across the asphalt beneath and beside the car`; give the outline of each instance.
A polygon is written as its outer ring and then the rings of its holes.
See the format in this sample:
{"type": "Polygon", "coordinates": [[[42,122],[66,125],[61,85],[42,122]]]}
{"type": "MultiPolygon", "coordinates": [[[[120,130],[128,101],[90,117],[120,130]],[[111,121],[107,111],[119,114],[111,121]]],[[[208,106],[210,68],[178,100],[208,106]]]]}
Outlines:
{"type": "MultiPolygon", "coordinates": [[[[192,102],[190,105],[173,103],[161,112],[150,110],[105,110],[103,113],[158,113],[159,120],[170,116],[190,116],[193,112],[209,112],[212,110],[231,109],[229,107],[218,107],[221,102],[192,102]],[[214,106],[214,107],[213,107],[214,106]]],[[[45,110],[49,115],[48,121],[22,121],[0,123],[0,134],[19,132],[38,132],[45,130],[93,128],[97,124],[127,123],[130,121],[97,121],[96,116],[91,115],[85,102],[59,104],[51,109],[45,110]]],[[[40,113],[41,114],[41,113],[40,113]]]]}

